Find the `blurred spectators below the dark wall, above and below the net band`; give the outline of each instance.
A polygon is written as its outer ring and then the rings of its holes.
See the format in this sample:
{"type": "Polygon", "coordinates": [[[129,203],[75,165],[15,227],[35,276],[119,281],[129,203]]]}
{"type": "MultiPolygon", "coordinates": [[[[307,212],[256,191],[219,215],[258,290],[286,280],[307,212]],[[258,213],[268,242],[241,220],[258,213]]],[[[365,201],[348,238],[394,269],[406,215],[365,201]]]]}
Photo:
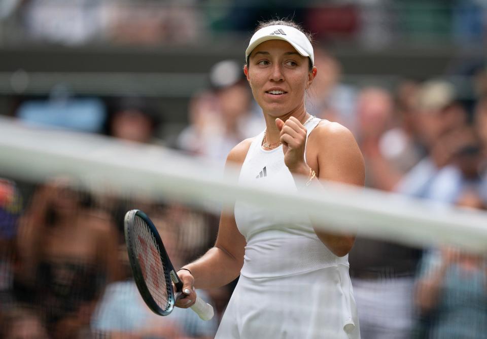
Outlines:
{"type": "MultiPolygon", "coordinates": [[[[485,65],[472,72],[473,95],[465,98],[446,78],[405,79],[391,88],[354,86],[342,81],[339,61],[325,50],[317,47],[315,59],[318,77],[306,108],[354,133],[367,186],[486,208],[485,65]]],[[[78,98],[59,88],[46,99],[22,100],[15,116],[25,123],[165,144],[223,165],[237,142],[265,125],[241,63],[218,62],[209,78],[211,87],[191,97],[188,124],[175,140],[164,139],[164,122],[143,97],[78,98]]],[[[166,318],[152,315],[131,280],[122,220],[135,207],[151,215],[179,267],[212,246],[218,217],[178,204],[79,192],[73,181],[0,180],[0,337],[211,338],[231,286],[200,292],[216,307],[212,322],[179,309],[166,318]]],[[[359,235],[349,261],[362,338],[487,333],[484,257],[359,235]]]]}

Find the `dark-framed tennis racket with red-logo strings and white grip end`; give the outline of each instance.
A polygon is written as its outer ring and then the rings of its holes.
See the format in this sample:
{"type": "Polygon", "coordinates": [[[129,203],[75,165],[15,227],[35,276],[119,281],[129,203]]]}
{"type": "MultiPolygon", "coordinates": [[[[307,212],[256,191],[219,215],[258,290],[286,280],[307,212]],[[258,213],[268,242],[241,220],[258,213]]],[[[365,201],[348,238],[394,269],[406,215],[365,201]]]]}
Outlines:
{"type": "MultiPolygon", "coordinates": [[[[124,220],[125,242],[130,267],[144,302],[156,314],[169,315],[177,300],[184,297],[183,282],[176,274],[151,219],[140,210],[130,210],[124,220]],[[176,286],[176,294],[171,281],[176,286]]],[[[213,307],[200,297],[191,309],[202,320],[213,318],[213,307]]]]}

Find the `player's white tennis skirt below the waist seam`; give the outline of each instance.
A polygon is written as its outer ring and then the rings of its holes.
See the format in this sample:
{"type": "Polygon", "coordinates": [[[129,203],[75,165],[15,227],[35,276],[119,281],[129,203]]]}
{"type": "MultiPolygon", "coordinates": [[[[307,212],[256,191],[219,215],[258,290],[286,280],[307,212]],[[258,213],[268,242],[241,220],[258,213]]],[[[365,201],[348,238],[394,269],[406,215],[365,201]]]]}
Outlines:
{"type": "Polygon", "coordinates": [[[359,339],[345,265],[275,278],[240,276],[215,339],[359,339]]]}

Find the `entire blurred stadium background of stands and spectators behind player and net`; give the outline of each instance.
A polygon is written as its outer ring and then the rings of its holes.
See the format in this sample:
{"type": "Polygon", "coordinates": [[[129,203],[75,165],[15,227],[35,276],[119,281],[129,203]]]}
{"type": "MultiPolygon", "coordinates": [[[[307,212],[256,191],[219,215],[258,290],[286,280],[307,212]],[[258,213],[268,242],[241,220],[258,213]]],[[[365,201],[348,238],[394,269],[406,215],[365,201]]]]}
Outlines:
{"type": "MultiPolygon", "coordinates": [[[[307,109],[352,130],[368,187],[486,208],[483,0],[2,0],[0,116],[10,119],[0,124],[223,166],[264,128],[241,69],[257,21],[276,17],[314,34],[319,76],[307,109]]],[[[214,210],[76,191],[79,178],[55,174],[28,180],[0,159],[0,337],[213,337],[232,286],[201,292],[213,322],[181,310],[150,316],[127,271],[122,220],[145,210],[179,266],[212,246],[214,210]]],[[[350,254],[362,337],[486,337],[484,256],[402,243],[359,237],[350,254]]]]}

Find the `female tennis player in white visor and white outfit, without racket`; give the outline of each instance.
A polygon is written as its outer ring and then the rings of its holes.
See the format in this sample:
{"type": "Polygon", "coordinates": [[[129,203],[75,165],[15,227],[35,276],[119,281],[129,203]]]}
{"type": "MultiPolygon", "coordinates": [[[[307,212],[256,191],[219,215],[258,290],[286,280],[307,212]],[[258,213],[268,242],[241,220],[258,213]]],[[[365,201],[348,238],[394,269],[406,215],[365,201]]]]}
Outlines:
{"type": "MultiPolygon", "coordinates": [[[[317,75],[310,39],[294,22],[261,24],[243,71],[266,129],[235,146],[227,163],[239,182],[306,190],[320,180],[363,185],[364,161],[351,132],[310,116],[306,89],[317,75]],[[297,180],[305,176],[305,183],[297,180]]],[[[190,307],[194,288],[240,275],[216,338],[359,338],[347,253],[354,236],[323,232],[304,218],[268,217],[266,206],[237,201],[222,213],[215,247],[178,274],[190,307]]]]}

